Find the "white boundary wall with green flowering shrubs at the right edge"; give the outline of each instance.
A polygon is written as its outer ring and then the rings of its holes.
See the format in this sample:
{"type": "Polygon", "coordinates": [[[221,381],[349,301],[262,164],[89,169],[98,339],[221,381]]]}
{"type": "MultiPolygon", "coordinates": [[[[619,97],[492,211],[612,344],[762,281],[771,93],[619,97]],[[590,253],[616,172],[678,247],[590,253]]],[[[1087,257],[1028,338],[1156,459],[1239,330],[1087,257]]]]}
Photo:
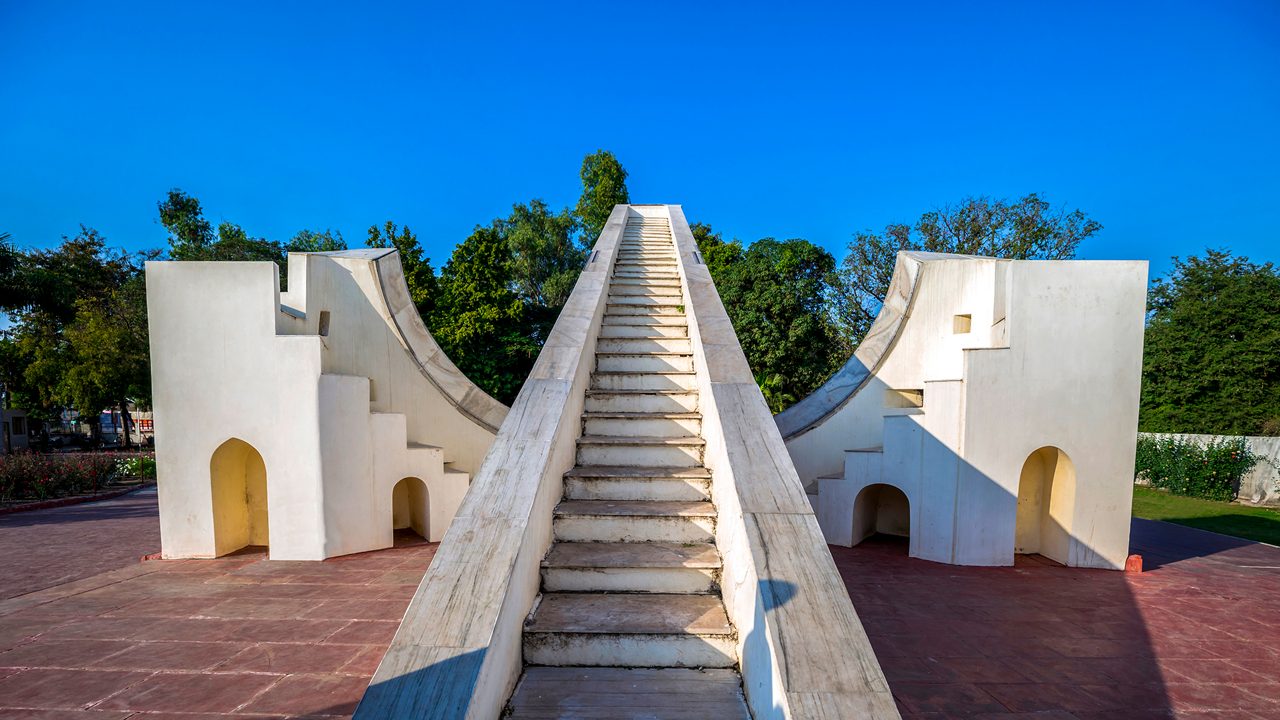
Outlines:
{"type": "Polygon", "coordinates": [[[1280,438],[1139,433],[1134,479],[1176,495],[1280,505],[1280,438]]]}

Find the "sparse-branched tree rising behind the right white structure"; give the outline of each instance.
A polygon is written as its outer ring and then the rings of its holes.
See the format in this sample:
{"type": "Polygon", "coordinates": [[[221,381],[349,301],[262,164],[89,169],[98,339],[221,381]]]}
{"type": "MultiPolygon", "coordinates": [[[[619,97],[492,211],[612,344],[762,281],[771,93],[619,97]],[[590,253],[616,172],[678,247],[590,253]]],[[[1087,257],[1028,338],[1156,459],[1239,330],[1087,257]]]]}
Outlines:
{"type": "Polygon", "coordinates": [[[836,322],[849,346],[861,341],[888,293],[901,250],[1064,260],[1101,229],[1080,210],[1053,210],[1030,193],[1015,201],[966,197],[920,215],[914,228],[891,224],[883,233],[856,233],[833,286],[836,322]]]}

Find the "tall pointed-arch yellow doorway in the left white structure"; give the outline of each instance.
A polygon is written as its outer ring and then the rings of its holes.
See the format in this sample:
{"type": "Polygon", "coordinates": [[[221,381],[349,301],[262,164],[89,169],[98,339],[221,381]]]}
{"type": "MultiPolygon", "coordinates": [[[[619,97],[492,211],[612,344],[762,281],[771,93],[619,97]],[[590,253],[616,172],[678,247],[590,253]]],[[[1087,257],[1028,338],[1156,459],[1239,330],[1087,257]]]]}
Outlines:
{"type": "Polygon", "coordinates": [[[214,552],[219,556],[270,544],[266,465],[250,443],[232,438],[209,461],[214,500],[214,552]]]}

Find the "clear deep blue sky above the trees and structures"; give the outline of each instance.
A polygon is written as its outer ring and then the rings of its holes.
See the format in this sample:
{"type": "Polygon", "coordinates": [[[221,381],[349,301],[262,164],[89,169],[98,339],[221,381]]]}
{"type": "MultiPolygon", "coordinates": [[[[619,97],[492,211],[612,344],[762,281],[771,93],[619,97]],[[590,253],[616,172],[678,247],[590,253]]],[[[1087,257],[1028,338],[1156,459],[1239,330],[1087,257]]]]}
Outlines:
{"type": "Polygon", "coordinates": [[[442,264],[512,202],[632,199],[727,236],[858,229],[1044,193],[1084,258],[1280,260],[1280,3],[0,1],[0,232],[163,246],[156,201],[442,264]],[[888,5],[895,5],[888,8],[888,5]]]}

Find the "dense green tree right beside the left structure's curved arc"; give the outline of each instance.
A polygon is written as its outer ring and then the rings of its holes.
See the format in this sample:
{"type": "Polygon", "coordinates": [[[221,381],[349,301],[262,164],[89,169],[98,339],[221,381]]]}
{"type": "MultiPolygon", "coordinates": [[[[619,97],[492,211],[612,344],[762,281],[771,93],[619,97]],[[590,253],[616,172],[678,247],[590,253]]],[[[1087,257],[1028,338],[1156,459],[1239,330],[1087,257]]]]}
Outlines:
{"type": "Polygon", "coordinates": [[[529,309],[512,290],[511,247],[495,227],[476,227],[440,272],[442,302],[428,325],[471,382],[509,404],[534,366],[540,343],[529,309]]]}

